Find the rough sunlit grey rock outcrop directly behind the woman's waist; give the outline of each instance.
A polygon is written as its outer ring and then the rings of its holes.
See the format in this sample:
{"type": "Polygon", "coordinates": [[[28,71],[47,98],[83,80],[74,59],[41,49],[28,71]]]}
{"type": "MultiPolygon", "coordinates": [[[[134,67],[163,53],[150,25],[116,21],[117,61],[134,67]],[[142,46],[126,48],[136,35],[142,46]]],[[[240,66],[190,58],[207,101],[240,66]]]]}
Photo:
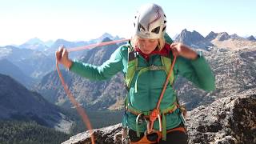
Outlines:
{"type": "MultiPolygon", "coordinates": [[[[220,98],[210,106],[199,106],[186,116],[192,143],[255,143],[256,90],[220,98]]],[[[96,143],[122,143],[121,124],[94,130],[96,143]]],[[[63,144],[90,143],[88,131],[63,144]]]]}

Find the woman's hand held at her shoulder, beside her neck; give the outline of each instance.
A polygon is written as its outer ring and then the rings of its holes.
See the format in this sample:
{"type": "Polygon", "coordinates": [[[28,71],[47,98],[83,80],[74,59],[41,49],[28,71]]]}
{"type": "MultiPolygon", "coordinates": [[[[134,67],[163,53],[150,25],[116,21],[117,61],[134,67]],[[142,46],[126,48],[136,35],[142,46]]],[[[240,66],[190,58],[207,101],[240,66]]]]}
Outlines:
{"type": "Polygon", "coordinates": [[[192,60],[198,58],[198,54],[194,50],[191,50],[188,46],[180,42],[172,43],[170,49],[173,51],[174,56],[182,56],[183,58],[192,60]]]}

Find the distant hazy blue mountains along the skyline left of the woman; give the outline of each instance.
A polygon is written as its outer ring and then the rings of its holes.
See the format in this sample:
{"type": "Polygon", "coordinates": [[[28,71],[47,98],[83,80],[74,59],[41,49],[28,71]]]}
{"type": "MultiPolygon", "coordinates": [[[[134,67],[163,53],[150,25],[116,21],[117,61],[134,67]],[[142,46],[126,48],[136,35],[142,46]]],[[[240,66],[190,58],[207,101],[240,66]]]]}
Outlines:
{"type": "MultiPolygon", "coordinates": [[[[42,42],[38,38],[31,38],[29,41],[20,46],[2,46],[0,47],[0,60],[6,59],[18,66],[26,76],[34,78],[38,82],[44,75],[55,70],[55,51],[59,46],[66,48],[85,46],[94,42],[102,42],[104,38],[118,39],[108,33],[102,34],[99,38],[92,39],[88,42],[69,42],[64,39],[58,39],[55,42],[42,42]]],[[[84,50],[86,51],[86,50],[84,50]]],[[[73,52],[70,58],[80,58],[81,52],[73,52]]]]}

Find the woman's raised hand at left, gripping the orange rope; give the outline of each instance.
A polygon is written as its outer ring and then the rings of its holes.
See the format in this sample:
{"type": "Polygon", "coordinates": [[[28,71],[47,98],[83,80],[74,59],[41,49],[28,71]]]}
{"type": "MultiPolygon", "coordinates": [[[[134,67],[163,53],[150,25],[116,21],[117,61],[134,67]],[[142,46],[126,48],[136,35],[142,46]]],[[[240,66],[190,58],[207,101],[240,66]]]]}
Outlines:
{"type": "Polygon", "coordinates": [[[64,46],[59,46],[55,53],[57,61],[64,65],[67,69],[70,69],[72,61],[69,59],[69,52],[64,48],[64,46]]]}

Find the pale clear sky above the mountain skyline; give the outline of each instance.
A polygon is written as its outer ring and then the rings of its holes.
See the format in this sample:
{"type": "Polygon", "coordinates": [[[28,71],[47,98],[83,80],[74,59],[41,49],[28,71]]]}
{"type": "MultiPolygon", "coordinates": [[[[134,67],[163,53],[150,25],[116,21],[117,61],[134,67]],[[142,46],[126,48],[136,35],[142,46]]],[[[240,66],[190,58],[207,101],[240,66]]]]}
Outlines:
{"type": "Polygon", "coordinates": [[[256,35],[254,0],[0,0],[0,46],[35,37],[86,41],[105,32],[130,38],[135,11],[147,2],[162,6],[172,37],[185,28],[256,35]]]}

